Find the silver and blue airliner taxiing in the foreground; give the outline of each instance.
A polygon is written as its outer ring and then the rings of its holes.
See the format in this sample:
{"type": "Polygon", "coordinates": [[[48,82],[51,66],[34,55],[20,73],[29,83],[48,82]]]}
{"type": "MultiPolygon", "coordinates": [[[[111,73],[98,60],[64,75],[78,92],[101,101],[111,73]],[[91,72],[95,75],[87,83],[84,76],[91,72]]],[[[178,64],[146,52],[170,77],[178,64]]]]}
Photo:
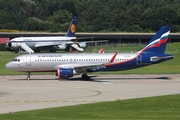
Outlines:
{"type": "Polygon", "coordinates": [[[82,74],[82,79],[90,79],[87,72],[128,70],[173,59],[173,55],[164,54],[169,33],[170,27],[162,26],[137,53],[24,54],[7,63],[6,68],[28,72],[28,80],[31,72],[56,72],[59,78],[82,74]]]}

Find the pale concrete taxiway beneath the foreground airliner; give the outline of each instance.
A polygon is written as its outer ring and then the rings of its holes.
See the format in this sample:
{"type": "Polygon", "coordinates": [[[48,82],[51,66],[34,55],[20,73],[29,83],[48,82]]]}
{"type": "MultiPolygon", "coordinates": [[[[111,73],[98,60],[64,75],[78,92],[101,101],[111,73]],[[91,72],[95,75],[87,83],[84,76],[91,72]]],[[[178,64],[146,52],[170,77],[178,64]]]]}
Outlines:
{"type": "Polygon", "coordinates": [[[97,75],[91,81],[25,78],[0,76],[0,113],[180,93],[180,74],[97,75]]]}

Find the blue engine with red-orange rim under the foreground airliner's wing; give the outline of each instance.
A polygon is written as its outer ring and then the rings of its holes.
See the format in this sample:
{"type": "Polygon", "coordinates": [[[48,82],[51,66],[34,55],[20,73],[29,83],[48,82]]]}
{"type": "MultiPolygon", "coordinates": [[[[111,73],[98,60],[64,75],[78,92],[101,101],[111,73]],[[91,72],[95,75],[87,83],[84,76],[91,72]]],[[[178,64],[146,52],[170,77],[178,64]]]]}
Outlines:
{"type": "Polygon", "coordinates": [[[76,74],[75,70],[73,68],[58,68],[56,75],[59,78],[69,78],[73,77],[76,74]]]}

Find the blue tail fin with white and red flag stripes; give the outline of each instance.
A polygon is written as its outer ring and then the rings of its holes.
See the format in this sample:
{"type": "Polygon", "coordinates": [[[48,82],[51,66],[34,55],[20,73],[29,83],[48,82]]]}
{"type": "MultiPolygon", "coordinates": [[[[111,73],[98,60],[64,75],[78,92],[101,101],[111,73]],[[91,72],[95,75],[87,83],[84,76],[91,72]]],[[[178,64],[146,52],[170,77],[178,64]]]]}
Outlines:
{"type": "Polygon", "coordinates": [[[152,37],[149,43],[141,51],[139,51],[139,53],[151,52],[164,54],[169,33],[170,26],[162,26],[152,37]]]}

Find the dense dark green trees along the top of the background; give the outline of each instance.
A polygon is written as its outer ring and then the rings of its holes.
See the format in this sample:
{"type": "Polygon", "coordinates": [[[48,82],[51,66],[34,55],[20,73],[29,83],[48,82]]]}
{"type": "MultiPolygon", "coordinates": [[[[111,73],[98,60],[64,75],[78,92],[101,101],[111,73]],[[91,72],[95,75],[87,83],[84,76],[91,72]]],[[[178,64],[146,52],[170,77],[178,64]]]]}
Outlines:
{"type": "Polygon", "coordinates": [[[180,31],[180,0],[0,0],[0,29],[66,32],[180,31]]]}

